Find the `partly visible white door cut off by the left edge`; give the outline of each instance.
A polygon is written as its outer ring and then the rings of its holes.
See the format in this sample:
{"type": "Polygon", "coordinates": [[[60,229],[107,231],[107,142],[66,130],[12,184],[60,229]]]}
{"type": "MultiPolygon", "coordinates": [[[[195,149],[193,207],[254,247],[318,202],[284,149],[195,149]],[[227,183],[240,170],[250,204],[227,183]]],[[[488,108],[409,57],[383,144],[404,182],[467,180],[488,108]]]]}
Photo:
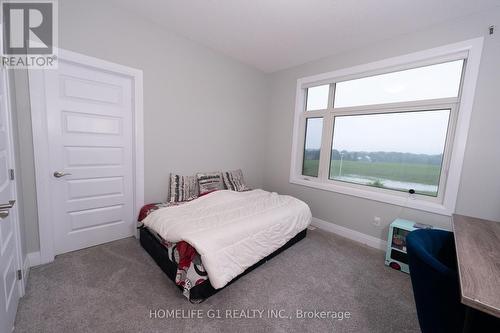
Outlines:
{"type": "Polygon", "coordinates": [[[11,332],[19,301],[17,288],[18,238],[16,237],[14,184],[10,180],[12,143],[7,112],[5,73],[0,69],[0,332],[11,332]],[[10,203],[9,203],[10,202],[10,203]]]}

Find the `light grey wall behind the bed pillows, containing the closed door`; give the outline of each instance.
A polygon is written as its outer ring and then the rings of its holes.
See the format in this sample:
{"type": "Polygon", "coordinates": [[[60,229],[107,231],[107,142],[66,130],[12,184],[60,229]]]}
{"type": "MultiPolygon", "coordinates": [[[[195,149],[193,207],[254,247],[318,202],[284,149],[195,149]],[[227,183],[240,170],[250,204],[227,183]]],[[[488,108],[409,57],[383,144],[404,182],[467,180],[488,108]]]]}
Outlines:
{"type": "MultiPolygon", "coordinates": [[[[262,186],[265,74],[103,1],[59,1],[59,46],[143,70],[146,202],[166,199],[170,172],[242,168],[250,186],[262,186]]],[[[19,120],[29,128],[29,118],[19,120]]],[[[23,147],[28,174],[32,150],[23,147]]],[[[34,193],[33,179],[23,181],[34,193]]],[[[38,225],[28,217],[25,238],[35,252],[38,225]]]]}

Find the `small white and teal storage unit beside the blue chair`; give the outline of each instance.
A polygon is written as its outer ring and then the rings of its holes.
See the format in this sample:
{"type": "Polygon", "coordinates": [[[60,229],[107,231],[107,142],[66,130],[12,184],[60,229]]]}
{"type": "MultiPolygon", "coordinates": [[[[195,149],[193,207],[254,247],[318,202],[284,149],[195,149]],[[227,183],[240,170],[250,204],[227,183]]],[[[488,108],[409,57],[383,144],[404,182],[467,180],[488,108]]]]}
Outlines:
{"type": "Polygon", "coordinates": [[[385,264],[391,268],[410,273],[408,254],[406,253],[406,236],[415,229],[432,228],[431,225],[413,221],[396,219],[389,226],[385,264]]]}

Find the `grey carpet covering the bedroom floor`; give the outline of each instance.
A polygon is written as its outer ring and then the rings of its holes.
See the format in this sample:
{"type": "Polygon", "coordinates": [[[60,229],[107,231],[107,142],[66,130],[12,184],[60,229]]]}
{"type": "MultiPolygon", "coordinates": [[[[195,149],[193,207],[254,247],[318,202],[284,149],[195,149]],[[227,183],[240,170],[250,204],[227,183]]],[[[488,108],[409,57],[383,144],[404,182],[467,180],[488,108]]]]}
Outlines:
{"type": "MultiPolygon", "coordinates": [[[[157,312],[159,315],[162,312],[157,312]]],[[[187,312],[185,312],[185,315],[187,312]]],[[[409,276],[383,253],[323,231],[191,304],[133,238],[58,256],[31,270],[16,332],[419,332],[409,276]],[[204,319],[151,319],[150,310],[200,309],[204,319]],[[267,310],[284,310],[273,319],[267,310]],[[348,311],[299,319],[296,311],[348,311]],[[211,311],[209,311],[211,310],[211,311]],[[221,319],[208,319],[220,310],[221,319]],[[262,319],[224,318],[264,310],[262,319]],[[291,318],[288,318],[291,317],[291,318]]]]}

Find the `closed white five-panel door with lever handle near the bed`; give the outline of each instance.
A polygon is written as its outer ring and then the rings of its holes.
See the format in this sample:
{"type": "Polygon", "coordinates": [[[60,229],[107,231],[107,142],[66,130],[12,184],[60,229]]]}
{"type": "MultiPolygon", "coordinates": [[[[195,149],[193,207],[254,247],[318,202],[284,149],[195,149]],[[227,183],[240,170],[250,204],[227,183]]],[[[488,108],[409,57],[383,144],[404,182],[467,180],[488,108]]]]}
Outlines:
{"type": "Polygon", "coordinates": [[[133,235],[132,79],[62,58],[43,75],[54,253],[133,235]]]}

